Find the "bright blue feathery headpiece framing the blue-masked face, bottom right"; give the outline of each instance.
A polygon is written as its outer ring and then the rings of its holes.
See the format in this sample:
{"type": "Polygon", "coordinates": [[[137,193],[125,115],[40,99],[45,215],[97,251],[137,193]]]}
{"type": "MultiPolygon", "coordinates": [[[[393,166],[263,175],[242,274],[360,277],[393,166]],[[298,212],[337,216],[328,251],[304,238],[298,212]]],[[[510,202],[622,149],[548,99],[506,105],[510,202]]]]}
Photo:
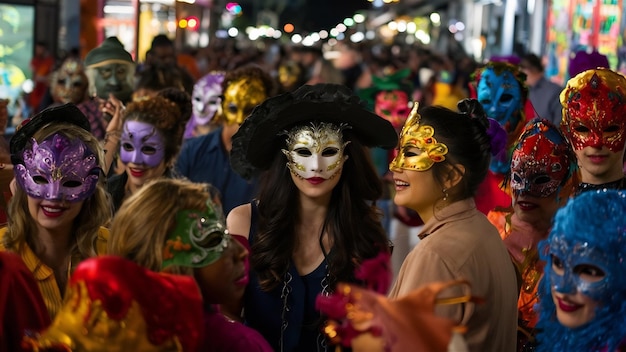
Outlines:
{"type": "Polygon", "coordinates": [[[626,193],[604,190],[571,199],[557,212],[539,251],[546,266],[538,290],[537,351],[616,351],[626,339],[626,193]],[[603,289],[611,292],[601,293],[593,320],[573,329],[559,323],[552,300],[552,282],[560,276],[552,269],[550,246],[554,250],[557,243],[565,243],[574,256],[588,253],[581,248],[601,253],[608,271],[603,280],[610,281],[603,289]]]}

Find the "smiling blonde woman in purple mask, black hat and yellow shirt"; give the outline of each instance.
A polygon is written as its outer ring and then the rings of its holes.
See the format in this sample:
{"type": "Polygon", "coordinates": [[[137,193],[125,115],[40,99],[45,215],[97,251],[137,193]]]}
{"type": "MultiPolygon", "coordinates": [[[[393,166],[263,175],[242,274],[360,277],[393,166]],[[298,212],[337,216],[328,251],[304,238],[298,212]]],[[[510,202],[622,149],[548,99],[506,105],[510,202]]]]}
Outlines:
{"type": "Polygon", "coordinates": [[[51,318],[78,263],[106,253],[111,205],[103,151],[72,104],[35,115],[11,138],[16,186],[0,250],[19,254],[51,318]]]}

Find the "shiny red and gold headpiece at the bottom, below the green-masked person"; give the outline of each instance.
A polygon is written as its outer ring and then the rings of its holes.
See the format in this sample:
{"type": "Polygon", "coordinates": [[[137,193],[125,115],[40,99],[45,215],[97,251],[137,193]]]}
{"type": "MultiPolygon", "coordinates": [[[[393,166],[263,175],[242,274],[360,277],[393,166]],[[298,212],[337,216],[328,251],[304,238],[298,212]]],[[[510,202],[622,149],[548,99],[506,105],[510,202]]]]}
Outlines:
{"type": "Polygon", "coordinates": [[[25,345],[40,351],[89,350],[103,341],[128,347],[147,340],[150,346],[140,345],[144,350],[176,343],[183,351],[198,351],[203,343],[202,297],[191,276],[155,273],[121,257],[99,256],[78,265],[63,303],[50,326],[25,345]],[[134,330],[140,326],[138,315],[145,329],[134,330]],[[101,321],[116,328],[94,328],[101,321]]]}

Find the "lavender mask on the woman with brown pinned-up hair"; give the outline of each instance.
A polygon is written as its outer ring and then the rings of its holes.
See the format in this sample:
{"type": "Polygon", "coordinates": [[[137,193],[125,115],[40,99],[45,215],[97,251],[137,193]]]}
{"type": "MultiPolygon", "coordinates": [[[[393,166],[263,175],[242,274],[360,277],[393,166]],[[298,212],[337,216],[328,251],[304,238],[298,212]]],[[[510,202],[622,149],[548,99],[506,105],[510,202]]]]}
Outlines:
{"type": "Polygon", "coordinates": [[[121,139],[120,158],[124,164],[157,167],[165,157],[165,142],[159,131],[149,123],[126,121],[121,139]]]}

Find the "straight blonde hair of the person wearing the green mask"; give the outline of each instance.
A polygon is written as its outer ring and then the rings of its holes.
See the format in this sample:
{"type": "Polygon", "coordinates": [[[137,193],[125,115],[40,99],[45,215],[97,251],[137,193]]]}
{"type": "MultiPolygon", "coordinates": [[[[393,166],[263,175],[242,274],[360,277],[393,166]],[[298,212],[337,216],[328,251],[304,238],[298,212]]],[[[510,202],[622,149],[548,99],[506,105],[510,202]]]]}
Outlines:
{"type": "MultiPolygon", "coordinates": [[[[205,210],[209,197],[215,198],[208,184],[168,178],[148,182],[116,213],[108,253],[162,271],[163,246],[176,228],[176,214],[187,209],[205,210]]],[[[168,272],[191,274],[189,268],[182,267],[168,267],[168,272]]]]}

